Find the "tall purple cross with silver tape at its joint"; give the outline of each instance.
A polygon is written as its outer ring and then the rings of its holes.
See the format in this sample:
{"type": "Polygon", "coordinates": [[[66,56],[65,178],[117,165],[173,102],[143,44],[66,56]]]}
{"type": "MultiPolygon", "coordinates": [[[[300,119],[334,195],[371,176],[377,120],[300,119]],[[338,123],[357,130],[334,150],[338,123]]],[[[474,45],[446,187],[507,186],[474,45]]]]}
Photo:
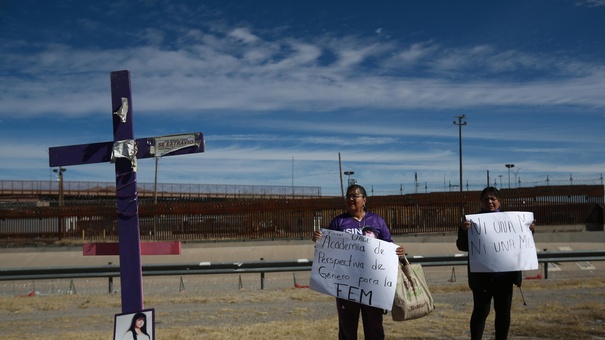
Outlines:
{"type": "Polygon", "coordinates": [[[113,142],[51,147],[49,165],[115,163],[122,312],[134,313],[143,310],[136,161],[204,152],[204,140],[201,132],[135,140],[129,71],[111,72],[111,104],[113,142]]]}

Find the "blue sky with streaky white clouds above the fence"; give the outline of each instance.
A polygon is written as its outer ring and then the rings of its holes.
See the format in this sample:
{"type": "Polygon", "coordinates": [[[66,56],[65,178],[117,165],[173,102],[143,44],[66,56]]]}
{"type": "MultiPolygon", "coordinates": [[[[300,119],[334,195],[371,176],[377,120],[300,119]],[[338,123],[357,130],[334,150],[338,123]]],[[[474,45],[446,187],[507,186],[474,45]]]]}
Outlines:
{"type": "MultiPolygon", "coordinates": [[[[338,194],[340,154],[376,193],[413,192],[415,174],[442,190],[465,115],[465,186],[507,186],[507,163],[513,184],[596,184],[604,20],[603,0],[3,0],[0,179],[49,180],[49,147],[113,140],[109,75],[129,70],[137,138],[205,136],[159,160],[162,183],[338,194]]],[[[138,181],[154,171],[139,160],[138,181]]]]}

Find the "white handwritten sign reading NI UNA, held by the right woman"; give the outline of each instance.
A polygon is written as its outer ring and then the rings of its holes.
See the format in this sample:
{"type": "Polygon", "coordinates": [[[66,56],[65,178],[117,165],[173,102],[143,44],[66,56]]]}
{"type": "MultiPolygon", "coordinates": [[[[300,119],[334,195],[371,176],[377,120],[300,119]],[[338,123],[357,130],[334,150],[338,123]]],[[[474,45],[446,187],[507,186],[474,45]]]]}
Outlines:
{"type": "Polygon", "coordinates": [[[466,215],[470,271],[509,272],[538,269],[536,245],[529,226],[531,212],[466,215]]]}

